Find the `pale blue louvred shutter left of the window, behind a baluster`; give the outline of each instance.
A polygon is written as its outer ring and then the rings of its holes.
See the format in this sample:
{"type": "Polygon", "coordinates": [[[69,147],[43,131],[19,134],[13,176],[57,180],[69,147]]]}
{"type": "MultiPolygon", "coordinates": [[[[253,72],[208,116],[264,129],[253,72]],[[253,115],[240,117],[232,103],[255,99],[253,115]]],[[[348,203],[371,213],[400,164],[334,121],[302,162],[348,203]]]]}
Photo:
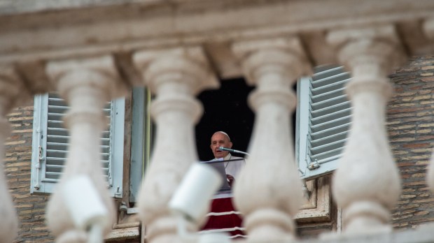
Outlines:
{"type": "MultiPolygon", "coordinates": [[[[62,175],[69,148],[69,131],[64,128],[63,124],[63,117],[67,110],[69,107],[57,94],[35,96],[31,193],[52,193],[62,175]]],[[[106,117],[109,117],[110,123],[101,137],[104,180],[112,196],[116,197],[122,196],[123,110],[123,103],[120,101],[107,103],[104,113],[106,117]],[[116,135],[116,133],[122,134],[116,135]],[[121,151],[115,149],[118,147],[115,145],[119,145],[119,142],[115,140],[118,137],[121,140],[121,151]],[[119,167],[120,171],[115,172],[114,169],[119,170],[119,167]]]]}

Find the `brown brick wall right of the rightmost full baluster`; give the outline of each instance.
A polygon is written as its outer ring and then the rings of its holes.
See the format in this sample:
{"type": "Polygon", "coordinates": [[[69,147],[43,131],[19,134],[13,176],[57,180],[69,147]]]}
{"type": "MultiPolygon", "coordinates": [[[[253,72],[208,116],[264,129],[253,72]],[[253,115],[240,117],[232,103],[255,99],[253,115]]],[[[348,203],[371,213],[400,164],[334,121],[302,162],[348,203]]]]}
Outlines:
{"type": "Polygon", "coordinates": [[[388,105],[388,133],[403,186],[393,226],[415,228],[434,221],[434,198],[425,182],[434,145],[434,56],[410,59],[391,80],[395,94],[388,105]]]}

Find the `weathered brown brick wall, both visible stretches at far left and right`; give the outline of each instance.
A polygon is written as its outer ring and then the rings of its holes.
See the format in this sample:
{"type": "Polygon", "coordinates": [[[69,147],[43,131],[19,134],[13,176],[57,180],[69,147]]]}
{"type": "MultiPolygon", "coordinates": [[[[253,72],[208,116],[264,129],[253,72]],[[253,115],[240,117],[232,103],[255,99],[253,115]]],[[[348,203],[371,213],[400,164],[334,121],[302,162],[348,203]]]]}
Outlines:
{"type": "MultiPolygon", "coordinates": [[[[388,133],[404,187],[393,226],[415,228],[434,220],[434,198],[425,183],[434,145],[434,56],[411,59],[391,80],[395,94],[388,105],[388,133]]],[[[13,110],[8,120],[12,133],[6,141],[5,171],[20,220],[16,242],[52,242],[44,219],[48,196],[29,193],[33,107],[13,110]]],[[[315,235],[333,227],[335,222],[303,225],[300,233],[315,235]]]]}

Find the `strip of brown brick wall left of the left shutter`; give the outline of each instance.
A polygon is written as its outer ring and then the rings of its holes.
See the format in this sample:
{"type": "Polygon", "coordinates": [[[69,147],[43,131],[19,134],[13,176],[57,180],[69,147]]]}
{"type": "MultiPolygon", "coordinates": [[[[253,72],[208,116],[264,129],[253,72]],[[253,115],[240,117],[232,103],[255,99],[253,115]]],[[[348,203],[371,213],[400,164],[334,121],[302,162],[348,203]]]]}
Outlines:
{"type": "Polygon", "coordinates": [[[47,196],[30,195],[33,106],[9,113],[12,133],[6,140],[5,173],[20,221],[15,242],[53,242],[45,226],[47,196]]]}

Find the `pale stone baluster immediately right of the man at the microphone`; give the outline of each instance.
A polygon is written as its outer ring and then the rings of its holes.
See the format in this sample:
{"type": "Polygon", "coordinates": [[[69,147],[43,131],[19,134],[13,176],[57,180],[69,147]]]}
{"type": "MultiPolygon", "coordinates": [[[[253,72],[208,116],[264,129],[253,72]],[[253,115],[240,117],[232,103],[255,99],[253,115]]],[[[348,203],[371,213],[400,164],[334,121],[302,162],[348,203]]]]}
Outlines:
{"type": "Polygon", "coordinates": [[[255,125],[250,156],[235,184],[235,205],[244,214],[248,241],[291,240],[293,216],[302,202],[302,183],[294,158],[290,114],[292,85],[307,70],[297,38],[235,43],[249,84],[255,125]]]}

